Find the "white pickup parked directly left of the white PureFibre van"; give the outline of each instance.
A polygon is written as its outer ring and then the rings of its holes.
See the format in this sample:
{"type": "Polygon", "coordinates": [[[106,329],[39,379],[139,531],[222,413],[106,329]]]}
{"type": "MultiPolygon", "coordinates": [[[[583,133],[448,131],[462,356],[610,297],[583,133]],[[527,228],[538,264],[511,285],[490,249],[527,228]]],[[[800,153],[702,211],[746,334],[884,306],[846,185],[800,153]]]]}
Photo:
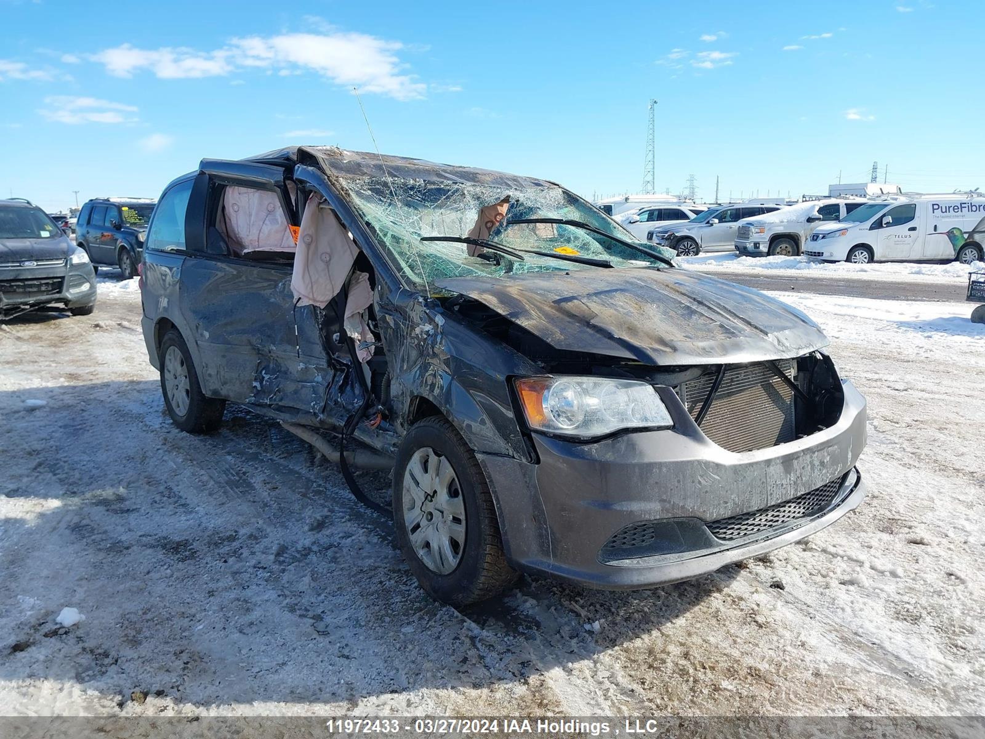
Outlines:
{"type": "Polygon", "coordinates": [[[735,247],[748,256],[799,256],[814,230],[837,222],[867,201],[829,198],[791,205],[739,223],[735,247]]]}

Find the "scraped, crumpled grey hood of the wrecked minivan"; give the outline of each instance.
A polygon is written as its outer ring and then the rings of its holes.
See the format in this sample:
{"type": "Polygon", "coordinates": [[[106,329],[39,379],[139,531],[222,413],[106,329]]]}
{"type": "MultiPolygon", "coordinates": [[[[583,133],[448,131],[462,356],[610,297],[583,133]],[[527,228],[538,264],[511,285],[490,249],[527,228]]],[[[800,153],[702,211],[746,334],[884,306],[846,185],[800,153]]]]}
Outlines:
{"type": "Polygon", "coordinates": [[[651,365],[785,359],[828,343],[796,308],[685,269],[579,269],[436,284],[486,304],[558,350],[651,365]]]}

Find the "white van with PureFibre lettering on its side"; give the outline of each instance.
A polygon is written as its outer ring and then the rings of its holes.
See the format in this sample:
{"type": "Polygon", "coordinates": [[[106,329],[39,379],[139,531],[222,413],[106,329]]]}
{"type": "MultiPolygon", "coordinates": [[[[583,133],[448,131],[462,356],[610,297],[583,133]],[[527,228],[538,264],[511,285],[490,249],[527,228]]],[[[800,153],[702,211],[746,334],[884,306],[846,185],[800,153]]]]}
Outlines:
{"type": "Polygon", "coordinates": [[[985,198],[928,195],[867,203],[811,235],[804,253],[856,264],[956,259],[982,261],[985,198]]]}

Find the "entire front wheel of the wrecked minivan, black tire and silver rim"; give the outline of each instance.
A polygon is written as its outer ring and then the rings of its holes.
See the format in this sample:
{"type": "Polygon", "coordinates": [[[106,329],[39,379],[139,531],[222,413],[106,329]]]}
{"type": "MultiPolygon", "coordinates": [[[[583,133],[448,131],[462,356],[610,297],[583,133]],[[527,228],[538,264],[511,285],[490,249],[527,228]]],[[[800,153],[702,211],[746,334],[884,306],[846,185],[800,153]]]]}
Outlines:
{"type": "Polygon", "coordinates": [[[443,418],[428,417],[404,437],[393,475],[393,517],[404,559],[436,600],[478,603],[519,576],[503,554],[479,460],[443,418]]]}

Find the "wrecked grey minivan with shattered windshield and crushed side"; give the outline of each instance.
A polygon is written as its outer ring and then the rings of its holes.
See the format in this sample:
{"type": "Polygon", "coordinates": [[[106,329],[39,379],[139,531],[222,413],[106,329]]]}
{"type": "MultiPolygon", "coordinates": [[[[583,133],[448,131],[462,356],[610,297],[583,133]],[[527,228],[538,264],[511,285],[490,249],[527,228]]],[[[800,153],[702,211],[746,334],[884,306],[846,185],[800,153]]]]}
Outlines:
{"type": "Polygon", "coordinates": [[[203,160],[150,224],[144,337],[178,428],[230,401],[358,494],[350,465],[392,467],[437,599],[520,571],[659,585],[864,495],[865,401],[818,325],[672,255],[542,179],[323,147],[203,160]]]}

